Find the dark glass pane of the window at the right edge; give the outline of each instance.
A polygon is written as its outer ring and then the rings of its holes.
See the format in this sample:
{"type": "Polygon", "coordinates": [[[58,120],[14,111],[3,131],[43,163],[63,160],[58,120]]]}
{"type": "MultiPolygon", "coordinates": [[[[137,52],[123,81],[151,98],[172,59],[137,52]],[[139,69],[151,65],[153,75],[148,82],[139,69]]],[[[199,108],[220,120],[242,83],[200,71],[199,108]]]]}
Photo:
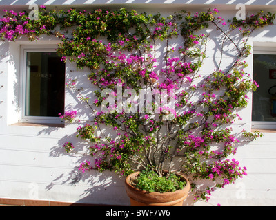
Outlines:
{"type": "Polygon", "coordinates": [[[276,87],[273,86],[276,86],[276,55],[254,54],[253,62],[253,79],[259,84],[259,88],[253,92],[252,120],[275,122],[276,87]]]}

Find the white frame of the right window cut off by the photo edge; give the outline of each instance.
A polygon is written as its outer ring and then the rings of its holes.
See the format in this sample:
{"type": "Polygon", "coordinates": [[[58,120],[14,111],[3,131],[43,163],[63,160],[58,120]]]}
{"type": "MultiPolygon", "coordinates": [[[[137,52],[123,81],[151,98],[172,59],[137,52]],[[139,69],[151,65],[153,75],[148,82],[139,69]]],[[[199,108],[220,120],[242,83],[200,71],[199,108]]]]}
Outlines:
{"type": "MultiPolygon", "coordinates": [[[[254,56],[254,54],[276,55],[276,45],[273,44],[269,47],[268,47],[268,45],[254,46],[253,56],[254,56]]],[[[252,58],[252,61],[254,63],[254,58],[252,58]]],[[[254,80],[254,78],[253,78],[253,80],[254,80]]],[[[251,108],[253,108],[253,100],[252,100],[252,107],[251,108]]],[[[253,110],[252,110],[252,113],[253,113],[253,110]]],[[[251,120],[252,120],[252,116],[251,116],[251,120]]],[[[276,122],[258,122],[258,121],[253,121],[252,120],[251,128],[252,129],[276,129],[276,122]]]]}

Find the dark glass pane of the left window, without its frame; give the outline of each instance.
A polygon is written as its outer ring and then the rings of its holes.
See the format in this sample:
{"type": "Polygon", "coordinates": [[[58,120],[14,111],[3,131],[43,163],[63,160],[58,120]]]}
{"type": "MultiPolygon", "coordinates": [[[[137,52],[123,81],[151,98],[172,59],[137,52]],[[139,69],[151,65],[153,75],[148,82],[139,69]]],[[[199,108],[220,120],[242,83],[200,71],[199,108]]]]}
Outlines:
{"type": "Polygon", "coordinates": [[[26,116],[64,111],[65,63],[56,52],[27,52],[26,116]]]}

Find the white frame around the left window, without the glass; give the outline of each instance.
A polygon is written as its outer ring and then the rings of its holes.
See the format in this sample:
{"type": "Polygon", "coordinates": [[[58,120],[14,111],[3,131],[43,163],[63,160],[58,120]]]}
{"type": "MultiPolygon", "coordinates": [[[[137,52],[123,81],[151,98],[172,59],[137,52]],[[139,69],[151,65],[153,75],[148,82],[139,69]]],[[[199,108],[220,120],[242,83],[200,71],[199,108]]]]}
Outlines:
{"type": "MultiPolygon", "coordinates": [[[[57,45],[20,45],[20,89],[19,89],[19,122],[39,124],[64,124],[59,116],[26,116],[26,89],[27,89],[27,53],[28,52],[57,52],[57,45]]],[[[65,75],[65,73],[64,73],[65,75]]],[[[65,85],[64,85],[65,87],[65,85]]],[[[64,96],[65,97],[65,96],[64,96]]],[[[64,100],[65,101],[65,100],[64,100]]]]}

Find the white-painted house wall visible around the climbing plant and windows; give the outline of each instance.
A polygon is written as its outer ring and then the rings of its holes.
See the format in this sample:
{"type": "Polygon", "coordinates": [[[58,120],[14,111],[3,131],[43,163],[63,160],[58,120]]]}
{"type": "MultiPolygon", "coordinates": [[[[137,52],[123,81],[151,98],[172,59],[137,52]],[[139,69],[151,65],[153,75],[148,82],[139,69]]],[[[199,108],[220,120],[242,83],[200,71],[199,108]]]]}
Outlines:
{"type": "MultiPolygon", "coordinates": [[[[65,1],[65,0],[64,0],[65,1]]],[[[54,3],[55,1],[48,1],[54,3]]],[[[77,1],[72,1],[76,3],[77,1]]],[[[91,1],[92,2],[92,1],[91,1]]],[[[247,1],[246,1],[247,2],[247,1]]],[[[0,1],[0,4],[3,1],[0,1]]],[[[14,5],[17,5],[15,1],[14,5]]],[[[35,3],[43,4],[42,1],[35,3]]],[[[96,3],[96,1],[95,1],[96,3]]],[[[121,3],[121,2],[119,2],[121,3]]],[[[175,1],[176,3],[176,1],[175,1]]],[[[61,3],[60,3],[61,4],[61,3]]],[[[109,5],[110,6],[110,5],[109,5]]],[[[115,5],[115,8],[121,5],[115,5]]],[[[187,5],[124,5],[137,9],[138,12],[154,14],[161,12],[163,16],[185,9],[187,5]]],[[[11,6],[12,7],[12,6],[11,6]]],[[[17,10],[19,10],[17,6],[17,10]]],[[[61,7],[61,6],[59,6],[61,7]]],[[[189,10],[201,11],[215,5],[192,5],[189,10]]],[[[0,8],[5,8],[4,6],[0,8]]],[[[98,7],[99,8],[99,7],[98,7]]],[[[112,5],[111,7],[112,8],[112,5]]],[[[217,8],[220,10],[219,6],[217,8]]],[[[221,5],[221,16],[235,17],[235,5],[221,5]],[[229,7],[229,8],[227,8],[229,7]]],[[[262,8],[258,6],[257,9],[262,8]]],[[[86,8],[87,9],[87,8],[86,8]]],[[[248,6],[248,12],[256,8],[248,6]]],[[[264,7],[267,10],[273,8],[264,7]]],[[[1,13],[1,12],[0,12],[1,13]]],[[[209,28],[212,33],[213,28],[209,28]]],[[[53,43],[56,39],[43,37],[41,41],[32,44],[53,43]]],[[[275,25],[257,30],[250,39],[254,42],[275,42],[275,25]]],[[[0,198],[14,199],[41,199],[54,201],[70,201],[81,203],[129,205],[128,196],[124,190],[124,178],[106,172],[82,174],[78,166],[83,159],[81,153],[67,155],[62,148],[68,140],[77,143],[73,124],[65,128],[36,127],[36,126],[11,126],[18,121],[19,104],[19,45],[29,43],[20,39],[16,43],[0,42],[0,198]],[[2,72],[3,71],[3,72],[2,72]]],[[[208,43],[208,53],[201,75],[208,75],[215,69],[220,53],[217,51],[216,36],[208,43]]],[[[269,44],[268,44],[269,46],[269,44]]],[[[227,66],[230,58],[225,57],[223,66],[227,66]]],[[[252,64],[253,56],[248,57],[252,64]]],[[[252,72],[249,65],[248,72],[252,72]]],[[[77,71],[74,63],[66,63],[66,78],[76,78],[89,73],[88,69],[77,71]]],[[[90,86],[86,81],[79,82],[85,89],[90,86]]],[[[79,107],[77,100],[70,91],[66,90],[66,110],[79,107]]],[[[251,102],[248,108],[240,112],[244,120],[236,122],[232,127],[235,131],[251,126],[251,102]]],[[[264,133],[262,139],[253,143],[242,143],[237,150],[236,159],[242,166],[248,168],[248,176],[239,179],[237,184],[216,190],[209,203],[193,202],[193,197],[188,197],[186,205],[211,206],[220,203],[221,206],[275,206],[276,205],[276,136],[274,133],[264,133]]],[[[81,146],[80,146],[81,147],[81,146]]]]}

